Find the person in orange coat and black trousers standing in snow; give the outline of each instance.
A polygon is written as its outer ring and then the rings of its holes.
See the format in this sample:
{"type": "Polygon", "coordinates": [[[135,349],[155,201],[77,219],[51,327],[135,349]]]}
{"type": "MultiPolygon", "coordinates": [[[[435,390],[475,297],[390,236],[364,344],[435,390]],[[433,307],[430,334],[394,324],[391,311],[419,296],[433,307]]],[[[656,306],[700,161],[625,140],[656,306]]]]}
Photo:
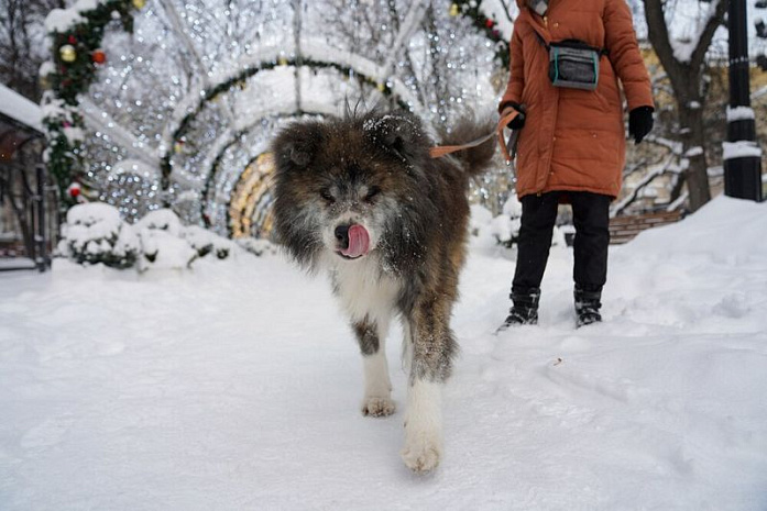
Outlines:
{"type": "Polygon", "coordinates": [[[537,324],[540,282],[559,203],[572,207],[578,326],[602,321],[610,202],[625,163],[623,98],[635,143],[653,129],[649,75],[626,0],[517,0],[511,76],[498,104],[519,130],[522,202],[512,308],[498,330],[537,324]],[[623,86],[623,95],[618,86],[623,86]]]}

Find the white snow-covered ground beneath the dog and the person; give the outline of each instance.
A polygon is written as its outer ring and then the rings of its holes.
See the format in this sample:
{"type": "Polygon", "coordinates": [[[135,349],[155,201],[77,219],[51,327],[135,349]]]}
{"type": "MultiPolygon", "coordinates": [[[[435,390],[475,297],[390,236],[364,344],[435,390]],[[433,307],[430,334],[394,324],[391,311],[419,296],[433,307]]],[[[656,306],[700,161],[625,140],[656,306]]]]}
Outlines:
{"type": "Polygon", "coordinates": [[[0,509],[767,509],[767,204],[612,248],[600,325],[574,329],[571,259],[555,248],[541,324],[496,337],[514,263],[474,240],[427,477],[401,463],[402,410],[360,414],[325,279],[278,256],[1,275],[0,509]]]}

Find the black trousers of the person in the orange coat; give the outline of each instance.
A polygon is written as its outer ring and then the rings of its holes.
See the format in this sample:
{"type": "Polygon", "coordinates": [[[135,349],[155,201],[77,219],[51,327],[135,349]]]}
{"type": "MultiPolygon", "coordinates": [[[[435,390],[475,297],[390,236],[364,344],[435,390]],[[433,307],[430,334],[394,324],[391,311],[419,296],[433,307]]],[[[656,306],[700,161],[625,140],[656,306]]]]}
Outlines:
{"type": "Polygon", "coordinates": [[[540,287],[549,258],[557,207],[562,195],[570,199],[576,224],[576,264],[572,273],[576,286],[585,291],[601,291],[607,279],[612,199],[589,191],[550,191],[522,198],[522,226],[512,287],[515,293],[525,293],[540,287]]]}

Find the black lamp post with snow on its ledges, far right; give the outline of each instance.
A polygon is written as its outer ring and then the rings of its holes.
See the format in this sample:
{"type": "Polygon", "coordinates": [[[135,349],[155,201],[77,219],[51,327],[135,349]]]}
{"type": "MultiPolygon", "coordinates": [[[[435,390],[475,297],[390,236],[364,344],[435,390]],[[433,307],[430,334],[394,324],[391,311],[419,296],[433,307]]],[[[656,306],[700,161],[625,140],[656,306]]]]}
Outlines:
{"type": "Polygon", "coordinates": [[[748,27],[746,0],[730,0],[730,108],[724,143],[724,193],[760,202],[761,152],[756,144],[756,123],[748,82],[748,27]]]}

